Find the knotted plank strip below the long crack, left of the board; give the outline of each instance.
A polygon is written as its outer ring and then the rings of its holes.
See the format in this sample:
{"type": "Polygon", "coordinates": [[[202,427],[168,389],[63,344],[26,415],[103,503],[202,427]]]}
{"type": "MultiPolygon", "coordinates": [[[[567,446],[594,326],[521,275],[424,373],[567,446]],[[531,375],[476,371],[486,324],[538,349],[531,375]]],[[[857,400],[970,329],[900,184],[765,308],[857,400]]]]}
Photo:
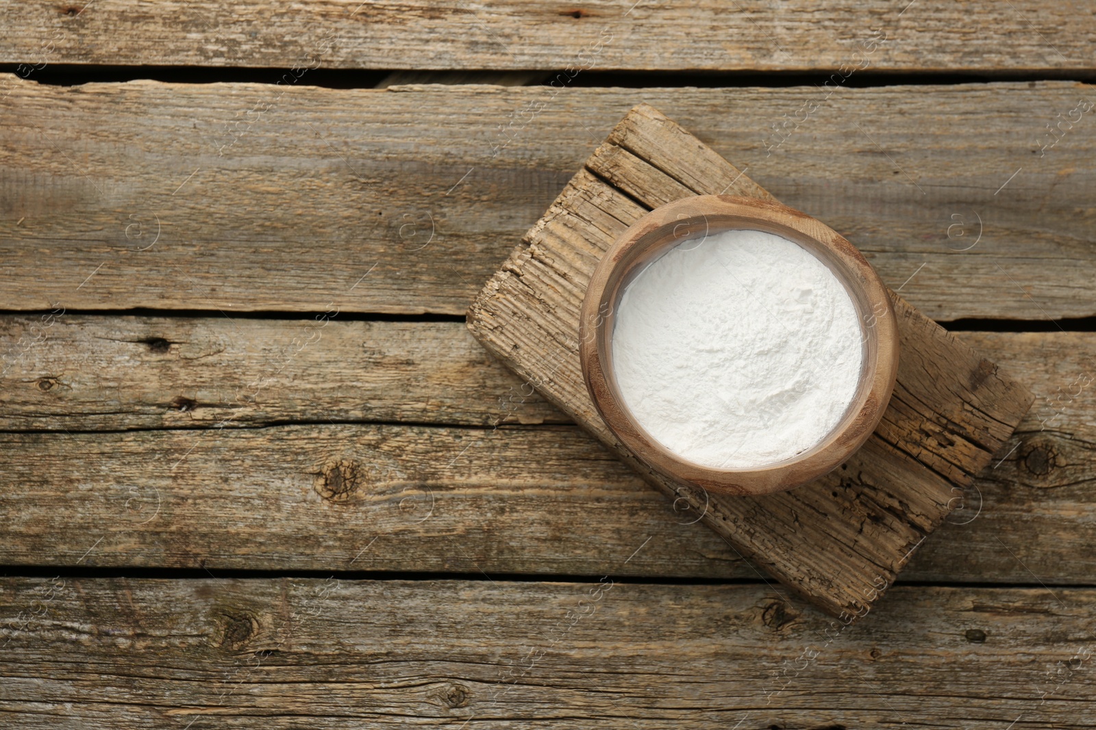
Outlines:
{"type": "MultiPolygon", "coordinates": [[[[573,426],[0,433],[0,444],[5,565],[593,575],[637,531],[680,543],[699,530],[573,426]]],[[[677,575],[712,546],[652,551],[627,568],[677,575]]]]}

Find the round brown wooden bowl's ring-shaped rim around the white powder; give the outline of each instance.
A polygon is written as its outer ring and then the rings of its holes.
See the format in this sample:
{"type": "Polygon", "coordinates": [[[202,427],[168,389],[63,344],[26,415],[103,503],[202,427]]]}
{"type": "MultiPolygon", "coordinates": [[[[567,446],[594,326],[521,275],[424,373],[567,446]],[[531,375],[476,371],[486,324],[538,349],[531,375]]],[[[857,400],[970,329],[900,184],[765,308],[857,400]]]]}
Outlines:
{"type": "Polygon", "coordinates": [[[806,213],[776,202],[701,195],[662,206],[617,239],[594,270],[582,302],[579,355],[586,389],[609,430],[642,462],[671,479],[726,495],[765,495],[806,484],[860,448],[882,418],[898,372],[898,328],[887,288],[853,244],[806,213]],[[614,314],[647,264],[689,239],[732,229],[765,231],[814,254],[848,291],[863,331],[856,395],[837,426],[812,449],[769,465],[712,468],[687,461],[650,436],[620,397],[613,375],[614,314]]]}

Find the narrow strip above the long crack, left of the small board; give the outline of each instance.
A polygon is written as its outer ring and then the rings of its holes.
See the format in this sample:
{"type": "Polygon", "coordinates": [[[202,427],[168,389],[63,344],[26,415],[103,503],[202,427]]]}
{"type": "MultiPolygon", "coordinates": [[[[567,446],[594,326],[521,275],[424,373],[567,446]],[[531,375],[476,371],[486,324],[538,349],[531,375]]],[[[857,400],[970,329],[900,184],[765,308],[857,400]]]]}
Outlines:
{"type": "Polygon", "coordinates": [[[569,421],[529,391],[460,323],[0,317],[0,430],[569,421]]]}

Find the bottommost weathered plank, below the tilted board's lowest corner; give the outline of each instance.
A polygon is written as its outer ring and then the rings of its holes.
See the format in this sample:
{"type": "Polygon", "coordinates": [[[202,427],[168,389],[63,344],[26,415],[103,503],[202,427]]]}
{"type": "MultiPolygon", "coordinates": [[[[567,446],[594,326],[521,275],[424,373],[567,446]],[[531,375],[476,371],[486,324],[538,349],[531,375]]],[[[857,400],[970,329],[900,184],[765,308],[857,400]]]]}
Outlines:
{"type": "Polygon", "coordinates": [[[610,581],[4,578],[0,711],[20,730],[1096,727],[1092,589],[898,588],[845,627],[764,586],[610,581]]]}

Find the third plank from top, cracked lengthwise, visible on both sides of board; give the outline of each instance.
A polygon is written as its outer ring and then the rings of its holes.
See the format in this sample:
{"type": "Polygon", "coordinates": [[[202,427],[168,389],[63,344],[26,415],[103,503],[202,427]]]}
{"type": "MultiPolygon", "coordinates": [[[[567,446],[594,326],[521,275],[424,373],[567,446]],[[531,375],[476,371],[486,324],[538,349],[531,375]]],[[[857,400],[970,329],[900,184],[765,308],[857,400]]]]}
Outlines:
{"type": "MultiPolygon", "coordinates": [[[[105,453],[106,461],[103,470],[92,470],[83,459],[85,444],[95,437],[79,431],[227,429],[285,421],[327,426],[327,419],[338,424],[352,418],[464,426],[569,420],[487,357],[459,323],[336,318],[322,329],[322,339],[286,358],[287,348],[290,354],[296,349],[295,338],[308,341],[315,324],[243,318],[233,323],[222,316],[65,315],[16,359],[22,351],[15,347],[20,337],[33,341],[28,322],[41,323],[37,317],[0,320],[0,354],[11,360],[0,381],[0,430],[67,429],[73,434],[2,437],[0,474],[10,474],[10,464],[24,466],[19,479],[2,477],[0,490],[5,534],[0,563],[9,565],[73,565],[88,548],[84,534],[98,525],[132,530],[133,523],[147,519],[147,510],[155,509],[153,488],[192,495],[191,507],[162,510],[125,549],[116,549],[113,538],[104,540],[104,549],[80,565],[187,568],[195,567],[201,559],[195,556],[202,555],[213,568],[322,570],[354,558],[356,541],[373,534],[367,529],[363,533],[363,525],[407,517],[398,509],[399,500],[355,502],[343,512],[331,512],[317,500],[309,502],[308,511],[294,512],[288,506],[299,498],[300,489],[307,494],[315,475],[284,465],[279,450],[287,437],[278,436],[277,429],[240,441],[230,433],[208,433],[187,455],[189,468],[170,473],[160,462],[182,456],[195,443],[189,440],[195,432],[132,434],[123,451],[93,449],[92,453],[105,453]],[[155,341],[158,338],[169,341],[165,352],[157,351],[162,348],[155,341]],[[263,389],[247,407],[214,409],[214,394],[254,394],[248,385],[256,378],[263,379],[263,389]],[[196,407],[182,409],[185,402],[175,401],[180,394],[195,397],[196,407]],[[271,503],[278,506],[265,514],[270,540],[261,545],[251,540],[250,528],[237,532],[238,522],[246,526],[254,521],[249,508],[222,495],[220,460],[233,452],[253,453],[247,456],[248,471],[238,473],[236,480],[248,488],[264,485],[271,503]],[[98,491],[65,486],[79,483],[94,483],[98,491]],[[24,491],[31,496],[16,498],[24,491]],[[145,517],[135,519],[141,512],[145,517]],[[332,545],[320,553],[307,549],[320,533],[333,535],[332,545]],[[194,548],[186,549],[189,544],[194,548]],[[285,549],[275,549],[277,545],[285,549]],[[208,546],[216,549],[203,554],[208,546]]],[[[1029,582],[1027,565],[1048,583],[1089,581],[1096,565],[1096,502],[1089,494],[1096,453],[1096,335],[959,333],[958,337],[1001,363],[1038,399],[1017,436],[974,485],[955,493],[956,511],[914,554],[903,578],[1029,582]],[[1001,456],[1006,457],[994,466],[1001,456]]],[[[368,428],[341,428],[347,429],[349,443],[365,444],[354,447],[359,461],[391,466],[374,454],[372,442],[362,441],[359,434],[368,428]]],[[[408,488],[406,496],[426,495],[431,485],[445,500],[452,520],[447,524],[463,535],[463,549],[491,575],[600,576],[610,569],[612,556],[630,552],[630,545],[653,534],[664,551],[637,555],[626,575],[757,577],[721,538],[688,524],[697,515],[684,502],[675,511],[674,502],[646,488],[573,428],[495,433],[429,428],[419,432],[410,425],[390,428],[395,433],[407,431],[398,442],[422,441],[410,453],[420,453],[429,443],[456,445],[460,434],[482,439],[445,472],[412,466],[399,489],[408,488]],[[521,473],[499,472],[500,464],[521,464],[521,473]],[[459,489],[450,488],[457,484],[459,489]],[[500,519],[504,530],[492,528],[500,519]],[[568,547],[561,549],[557,540],[568,547]],[[594,544],[600,549],[590,551],[594,544]]],[[[340,433],[321,432],[315,451],[318,462],[338,451],[340,433]]],[[[445,464],[458,452],[443,450],[437,459],[445,464]]],[[[402,519],[398,524],[399,549],[366,553],[351,567],[469,569],[470,564],[447,563],[453,551],[436,538],[431,522],[420,525],[402,519]]],[[[103,533],[94,534],[98,540],[103,533]]]]}

